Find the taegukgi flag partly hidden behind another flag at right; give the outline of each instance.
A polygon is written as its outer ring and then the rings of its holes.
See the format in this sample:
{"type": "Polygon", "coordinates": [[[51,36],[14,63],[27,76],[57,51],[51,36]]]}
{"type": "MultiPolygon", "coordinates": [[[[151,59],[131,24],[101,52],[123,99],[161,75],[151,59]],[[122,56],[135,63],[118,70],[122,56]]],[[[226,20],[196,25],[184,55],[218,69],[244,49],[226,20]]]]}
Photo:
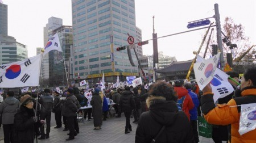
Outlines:
{"type": "MultiPolygon", "coordinates": [[[[201,62],[201,61],[205,61],[205,59],[197,55],[197,62],[201,62]]],[[[234,91],[232,85],[228,81],[228,78],[229,78],[228,74],[216,68],[213,74],[213,78],[210,81],[210,86],[212,87],[212,92],[214,93],[214,96],[213,96],[214,103],[219,98],[224,98],[225,96],[228,96],[234,91]]]]}

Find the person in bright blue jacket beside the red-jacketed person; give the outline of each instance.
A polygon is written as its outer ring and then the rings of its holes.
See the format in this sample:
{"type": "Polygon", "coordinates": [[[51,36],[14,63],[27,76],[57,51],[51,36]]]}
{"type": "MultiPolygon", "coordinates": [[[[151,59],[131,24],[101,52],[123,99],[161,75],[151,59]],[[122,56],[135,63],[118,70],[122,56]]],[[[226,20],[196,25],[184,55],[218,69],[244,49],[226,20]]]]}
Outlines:
{"type": "Polygon", "coordinates": [[[188,94],[191,96],[192,101],[195,105],[192,110],[189,110],[190,124],[192,127],[195,142],[199,142],[199,136],[198,136],[198,132],[197,132],[197,107],[199,107],[199,99],[198,99],[196,93],[191,90],[191,88],[192,88],[191,83],[188,83],[188,82],[185,83],[184,87],[188,90],[188,94]]]}

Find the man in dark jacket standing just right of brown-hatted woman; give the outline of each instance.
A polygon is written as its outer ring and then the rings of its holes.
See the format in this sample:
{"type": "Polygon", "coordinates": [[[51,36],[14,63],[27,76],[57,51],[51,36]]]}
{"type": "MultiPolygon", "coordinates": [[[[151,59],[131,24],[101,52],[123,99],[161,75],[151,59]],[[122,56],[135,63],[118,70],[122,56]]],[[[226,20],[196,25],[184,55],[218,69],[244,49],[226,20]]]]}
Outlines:
{"type": "Polygon", "coordinates": [[[41,137],[38,138],[39,140],[49,138],[53,106],[53,97],[50,92],[49,89],[44,89],[43,96],[39,99],[39,103],[41,104],[40,120],[46,120],[46,133],[44,132],[44,126],[40,127],[41,137]]]}

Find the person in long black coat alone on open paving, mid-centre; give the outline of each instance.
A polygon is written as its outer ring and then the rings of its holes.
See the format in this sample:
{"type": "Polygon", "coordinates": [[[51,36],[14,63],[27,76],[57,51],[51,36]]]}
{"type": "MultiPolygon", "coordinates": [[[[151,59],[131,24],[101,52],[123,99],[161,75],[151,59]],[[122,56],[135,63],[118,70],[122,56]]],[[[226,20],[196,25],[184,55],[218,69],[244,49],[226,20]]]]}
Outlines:
{"type": "Polygon", "coordinates": [[[130,124],[131,111],[135,108],[134,96],[130,91],[129,86],[125,86],[125,90],[122,92],[119,104],[121,105],[122,111],[125,113],[126,124],[125,124],[125,134],[132,131],[130,124]]]}

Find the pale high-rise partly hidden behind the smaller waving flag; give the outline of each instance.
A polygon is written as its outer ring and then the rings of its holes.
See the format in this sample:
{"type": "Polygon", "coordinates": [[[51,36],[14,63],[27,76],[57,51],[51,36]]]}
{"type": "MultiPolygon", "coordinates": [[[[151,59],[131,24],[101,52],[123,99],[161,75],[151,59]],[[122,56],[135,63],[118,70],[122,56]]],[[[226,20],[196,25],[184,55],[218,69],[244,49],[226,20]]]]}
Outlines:
{"type": "MultiPolygon", "coordinates": [[[[48,23],[44,27],[44,46],[47,44],[48,39],[53,36],[52,31],[62,26],[62,19],[51,17],[48,18],[48,23]]],[[[49,52],[42,59],[41,73],[43,79],[49,79],[49,52]]]]}

